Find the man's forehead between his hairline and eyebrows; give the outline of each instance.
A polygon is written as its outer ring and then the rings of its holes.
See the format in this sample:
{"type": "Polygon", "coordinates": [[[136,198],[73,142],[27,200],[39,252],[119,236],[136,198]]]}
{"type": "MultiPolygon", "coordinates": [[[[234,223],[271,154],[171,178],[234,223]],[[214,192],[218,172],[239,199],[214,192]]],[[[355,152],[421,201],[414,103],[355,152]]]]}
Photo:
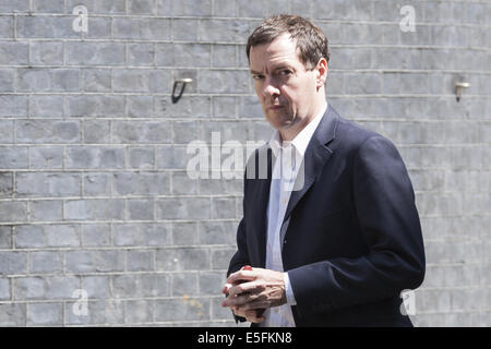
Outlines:
{"type": "Polygon", "coordinates": [[[297,44],[288,33],[282,34],[270,44],[251,47],[249,57],[251,69],[275,63],[301,64],[297,44]]]}

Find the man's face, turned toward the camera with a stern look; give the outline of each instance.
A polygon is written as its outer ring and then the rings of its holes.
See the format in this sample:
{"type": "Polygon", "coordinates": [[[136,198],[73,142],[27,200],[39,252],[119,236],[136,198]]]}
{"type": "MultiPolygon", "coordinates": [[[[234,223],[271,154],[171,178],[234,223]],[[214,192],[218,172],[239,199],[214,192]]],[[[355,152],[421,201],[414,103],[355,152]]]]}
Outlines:
{"type": "Polygon", "coordinates": [[[287,131],[314,117],[319,70],[306,70],[289,34],[251,47],[249,60],[255,93],[273,128],[287,131]]]}

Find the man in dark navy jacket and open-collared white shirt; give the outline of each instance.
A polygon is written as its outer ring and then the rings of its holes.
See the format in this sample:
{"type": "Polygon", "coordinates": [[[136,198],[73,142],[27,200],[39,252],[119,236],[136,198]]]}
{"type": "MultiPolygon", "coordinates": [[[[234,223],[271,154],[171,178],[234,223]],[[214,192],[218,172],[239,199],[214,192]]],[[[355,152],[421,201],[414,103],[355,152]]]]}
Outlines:
{"type": "Polygon", "coordinates": [[[260,326],[411,326],[400,292],[421,285],[424,250],[396,148],[327,105],[327,39],[312,23],[270,17],[247,53],[276,131],[248,161],[221,305],[260,326]]]}

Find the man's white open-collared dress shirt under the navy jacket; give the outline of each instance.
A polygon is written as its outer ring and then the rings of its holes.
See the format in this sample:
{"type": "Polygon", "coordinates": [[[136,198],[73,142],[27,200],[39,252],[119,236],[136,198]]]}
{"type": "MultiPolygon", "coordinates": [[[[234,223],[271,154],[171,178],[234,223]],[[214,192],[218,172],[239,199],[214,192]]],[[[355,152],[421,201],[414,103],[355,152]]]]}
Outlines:
{"type": "MultiPolygon", "coordinates": [[[[283,272],[280,231],[288,202],[292,190],[300,190],[295,185],[307,146],[319,122],[324,116],[327,105],[312,119],[307,127],[291,141],[282,141],[278,131],[273,133],[270,146],[276,157],[270,188],[270,202],[267,206],[267,242],[266,269],[283,272]]],[[[297,183],[298,184],[298,183],[297,183]]],[[[283,229],[286,229],[284,227],[283,229]]],[[[265,320],[261,327],[295,327],[294,314],[290,305],[296,305],[294,290],[291,289],[288,273],[284,273],[287,304],[266,309],[265,320]]]]}

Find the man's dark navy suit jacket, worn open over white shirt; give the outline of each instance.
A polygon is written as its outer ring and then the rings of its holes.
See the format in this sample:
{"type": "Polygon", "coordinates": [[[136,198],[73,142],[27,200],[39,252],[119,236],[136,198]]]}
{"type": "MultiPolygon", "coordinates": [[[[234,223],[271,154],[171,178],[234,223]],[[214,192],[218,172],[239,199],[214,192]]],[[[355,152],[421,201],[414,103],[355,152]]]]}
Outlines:
{"type": "MultiPolygon", "coordinates": [[[[227,275],[247,264],[265,266],[274,160],[267,144],[248,160],[238,251],[227,275]]],[[[302,165],[304,184],[291,193],[282,229],[297,326],[411,326],[400,292],[421,285],[424,249],[395,146],[328,106],[302,165]]]]}

